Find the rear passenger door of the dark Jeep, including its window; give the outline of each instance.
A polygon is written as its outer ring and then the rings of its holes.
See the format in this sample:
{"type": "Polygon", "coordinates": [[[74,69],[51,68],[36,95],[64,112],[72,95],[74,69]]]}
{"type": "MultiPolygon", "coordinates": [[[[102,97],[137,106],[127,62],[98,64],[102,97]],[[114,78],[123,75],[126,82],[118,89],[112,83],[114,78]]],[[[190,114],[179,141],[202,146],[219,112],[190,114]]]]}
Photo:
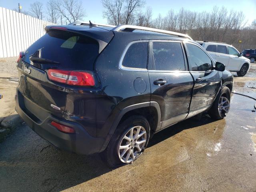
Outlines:
{"type": "Polygon", "coordinates": [[[179,41],[151,41],[152,70],[148,70],[151,101],[158,102],[162,128],[186,118],[193,88],[179,41]]]}

